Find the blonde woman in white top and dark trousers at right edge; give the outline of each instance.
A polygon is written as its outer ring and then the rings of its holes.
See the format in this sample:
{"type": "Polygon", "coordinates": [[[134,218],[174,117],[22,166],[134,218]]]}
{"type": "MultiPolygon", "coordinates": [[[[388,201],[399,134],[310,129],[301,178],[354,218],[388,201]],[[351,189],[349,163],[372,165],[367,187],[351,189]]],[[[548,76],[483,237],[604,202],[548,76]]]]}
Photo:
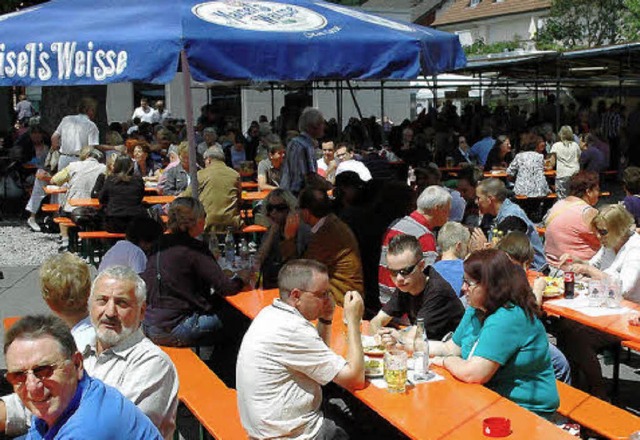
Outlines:
{"type": "MultiPolygon", "coordinates": [[[[634,232],[633,216],[622,205],[606,205],[592,225],[602,247],[588,262],[561,257],[560,267],[596,280],[607,277],[622,281],[623,295],[640,302],[640,235],[634,232]]],[[[607,399],[598,352],[617,348],[620,339],[569,319],[558,323],[558,345],[569,359],[575,386],[601,399],[607,399]]]]}

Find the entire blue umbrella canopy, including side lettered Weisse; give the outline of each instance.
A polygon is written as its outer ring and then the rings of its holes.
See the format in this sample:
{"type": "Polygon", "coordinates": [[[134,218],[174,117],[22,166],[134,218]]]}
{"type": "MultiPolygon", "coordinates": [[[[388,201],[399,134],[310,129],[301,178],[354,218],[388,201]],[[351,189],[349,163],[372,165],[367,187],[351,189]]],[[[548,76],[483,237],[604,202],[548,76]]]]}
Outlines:
{"type": "Polygon", "coordinates": [[[0,16],[0,86],[412,79],[466,64],[458,37],[321,0],[52,0],[0,16]]]}

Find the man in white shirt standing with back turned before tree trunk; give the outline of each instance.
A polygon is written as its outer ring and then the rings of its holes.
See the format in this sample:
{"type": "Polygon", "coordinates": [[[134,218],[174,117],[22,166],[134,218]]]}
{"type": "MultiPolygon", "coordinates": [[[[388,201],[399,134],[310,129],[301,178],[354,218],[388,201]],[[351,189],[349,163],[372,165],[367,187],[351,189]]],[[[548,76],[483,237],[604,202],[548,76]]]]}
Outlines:
{"type": "Polygon", "coordinates": [[[100,143],[100,133],[93,122],[97,107],[98,103],[94,99],[82,98],[78,105],[78,114],[62,118],[60,125],[53,132],[51,148],[60,149],[59,170],[79,160],[82,147],[100,143]]]}

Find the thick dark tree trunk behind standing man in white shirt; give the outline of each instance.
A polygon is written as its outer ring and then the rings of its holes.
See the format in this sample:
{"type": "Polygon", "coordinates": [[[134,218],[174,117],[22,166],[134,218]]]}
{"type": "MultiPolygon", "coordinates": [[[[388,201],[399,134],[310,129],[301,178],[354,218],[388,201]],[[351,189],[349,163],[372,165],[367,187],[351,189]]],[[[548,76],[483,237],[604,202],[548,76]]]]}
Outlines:
{"type": "Polygon", "coordinates": [[[100,130],[100,142],[107,132],[107,86],[43,87],[40,106],[41,125],[53,133],[62,118],[78,113],[80,100],[89,96],[98,101],[95,123],[100,130]]]}

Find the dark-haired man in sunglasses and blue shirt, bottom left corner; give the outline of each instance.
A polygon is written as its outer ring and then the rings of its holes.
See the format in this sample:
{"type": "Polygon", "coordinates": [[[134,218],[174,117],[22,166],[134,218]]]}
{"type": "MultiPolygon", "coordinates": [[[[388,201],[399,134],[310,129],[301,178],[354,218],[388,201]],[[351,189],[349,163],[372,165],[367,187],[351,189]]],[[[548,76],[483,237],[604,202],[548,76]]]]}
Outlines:
{"type": "Polygon", "coordinates": [[[9,329],[4,354],[5,377],[33,414],[28,439],[162,439],[139,408],[85,373],[60,318],[22,318],[9,329]]]}

